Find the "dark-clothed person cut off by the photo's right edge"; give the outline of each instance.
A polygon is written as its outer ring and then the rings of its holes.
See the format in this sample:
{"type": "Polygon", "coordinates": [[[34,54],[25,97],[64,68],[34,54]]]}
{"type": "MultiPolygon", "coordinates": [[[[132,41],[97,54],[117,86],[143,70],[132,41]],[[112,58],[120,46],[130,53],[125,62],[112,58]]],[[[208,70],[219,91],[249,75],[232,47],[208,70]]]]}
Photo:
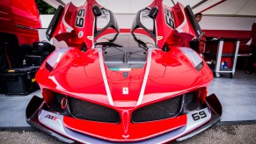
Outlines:
{"type": "Polygon", "coordinates": [[[250,32],[252,43],[250,47],[252,48],[252,55],[249,57],[247,63],[247,74],[252,74],[253,72],[253,64],[256,62],[256,21],[252,24],[252,30],[250,32]]]}

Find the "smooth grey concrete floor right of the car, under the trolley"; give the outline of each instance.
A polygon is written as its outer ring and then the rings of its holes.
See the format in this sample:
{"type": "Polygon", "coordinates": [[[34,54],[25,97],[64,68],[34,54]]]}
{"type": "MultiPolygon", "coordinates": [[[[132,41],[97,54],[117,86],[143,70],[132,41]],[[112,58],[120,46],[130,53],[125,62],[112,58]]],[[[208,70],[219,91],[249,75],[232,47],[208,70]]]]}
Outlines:
{"type": "Polygon", "coordinates": [[[256,74],[237,70],[234,78],[228,74],[214,78],[208,94],[215,93],[223,105],[222,121],[256,120],[256,74]]]}

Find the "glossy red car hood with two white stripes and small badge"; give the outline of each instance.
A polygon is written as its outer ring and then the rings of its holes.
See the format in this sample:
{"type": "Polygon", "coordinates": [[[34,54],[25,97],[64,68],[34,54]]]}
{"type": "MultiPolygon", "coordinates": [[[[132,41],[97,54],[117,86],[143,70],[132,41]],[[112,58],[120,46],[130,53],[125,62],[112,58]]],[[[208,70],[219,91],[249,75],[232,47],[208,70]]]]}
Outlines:
{"type": "Polygon", "coordinates": [[[41,87],[116,107],[135,107],[179,95],[212,79],[208,68],[196,70],[178,48],[168,53],[150,50],[147,59],[143,68],[113,70],[106,67],[101,51],[91,49],[84,53],[71,49],[48,74],[48,79],[40,79],[46,75],[43,70],[36,78],[41,87]]]}

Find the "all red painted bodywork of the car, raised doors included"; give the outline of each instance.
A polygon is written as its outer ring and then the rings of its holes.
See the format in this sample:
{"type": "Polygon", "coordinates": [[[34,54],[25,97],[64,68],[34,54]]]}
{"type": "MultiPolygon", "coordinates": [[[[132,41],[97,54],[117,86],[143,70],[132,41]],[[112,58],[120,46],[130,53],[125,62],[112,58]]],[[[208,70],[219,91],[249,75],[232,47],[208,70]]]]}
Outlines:
{"type": "MultiPolygon", "coordinates": [[[[187,50],[191,51],[189,48],[182,48],[187,46],[189,40],[196,37],[184,7],[178,3],[170,8],[158,0],[150,5],[150,8],[154,6],[158,8],[155,19],[157,35],[153,39],[157,40],[155,41],[157,47],[149,49],[143,68],[131,68],[127,71],[128,76],[123,76],[123,71],[108,68],[102,58],[104,52],[92,45],[93,41],[104,35],[101,34],[98,37],[93,35],[94,15],[91,6],[94,4],[97,3],[91,0],[79,8],[73,4],[67,4],[59,18],[61,20],[58,21],[53,36],[57,40],[64,40],[69,47],[73,48],[69,48],[59,55],[58,53],[62,50],[54,52],[41,65],[36,80],[40,84],[45,104],[51,107],[55,93],[60,93],[65,97],[74,97],[81,101],[113,109],[120,115],[121,121],[118,123],[77,119],[69,115],[63,115],[62,119],[62,124],[66,128],[108,141],[148,140],[178,130],[180,127],[186,127],[191,118],[187,118],[189,115],[181,113],[172,118],[148,122],[135,123],[131,120],[132,113],[144,106],[178,97],[191,91],[195,91],[194,97],[199,104],[205,104],[208,85],[213,75],[206,62],[198,54],[195,54],[195,57],[201,61],[202,67],[195,68],[194,61],[187,55],[187,50]],[[77,11],[81,9],[86,11],[84,27],[78,28],[75,26],[75,22],[77,11]],[[164,9],[172,11],[175,21],[173,28],[165,24],[164,9]],[[78,32],[81,31],[84,32],[84,35],[78,38],[78,32]],[[84,44],[87,47],[85,52],[80,50],[81,45],[84,44]],[[164,46],[168,47],[169,51],[163,51],[162,47],[164,46]],[[53,59],[58,60],[54,64],[49,64],[53,63],[53,59]],[[49,65],[52,67],[48,68],[49,65]],[[128,93],[124,93],[123,88],[128,88],[128,93]]],[[[144,37],[150,36],[147,32],[141,33],[146,33],[144,37]]],[[[191,53],[194,54],[194,52],[191,53]]],[[[66,105],[62,107],[66,107],[66,105]]],[[[210,112],[208,114],[210,115],[210,112]]],[[[203,118],[205,117],[201,119],[203,118]]],[[[202,122],[201,125],[208,120],[202,122]]],[[[47,126],[43,121],[40,123],[47,126]]],[[[53,127],[48,127],[55,131],[53,127]]],[[[196,128],[198,126],[186,133],[196,128]]],[[[169,140],[175,140],[180,136],[174,136],[169,140]]]]}

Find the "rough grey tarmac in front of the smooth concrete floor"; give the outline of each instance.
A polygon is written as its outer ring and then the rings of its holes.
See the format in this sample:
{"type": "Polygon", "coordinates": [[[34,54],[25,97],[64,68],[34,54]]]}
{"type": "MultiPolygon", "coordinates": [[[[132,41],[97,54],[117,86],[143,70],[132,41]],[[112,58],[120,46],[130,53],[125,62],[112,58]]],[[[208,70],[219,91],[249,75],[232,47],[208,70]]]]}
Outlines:
{"type": "MultiPolygon", "coordinates": [[[[208,130],[195,135],[194,137],[183,140],[180,142],[170,142],[174,144],[222,144],[222,143],[255,143],[256,142],[256,124],[248,125],[218,125],[208,128],[208,130]]],[[[29,128],[28,130],[22,129],[5,129],[0,130],[0,143],[12,144],[61,144],[60,140],[48,134],[36,131],[29,128]]]]}

